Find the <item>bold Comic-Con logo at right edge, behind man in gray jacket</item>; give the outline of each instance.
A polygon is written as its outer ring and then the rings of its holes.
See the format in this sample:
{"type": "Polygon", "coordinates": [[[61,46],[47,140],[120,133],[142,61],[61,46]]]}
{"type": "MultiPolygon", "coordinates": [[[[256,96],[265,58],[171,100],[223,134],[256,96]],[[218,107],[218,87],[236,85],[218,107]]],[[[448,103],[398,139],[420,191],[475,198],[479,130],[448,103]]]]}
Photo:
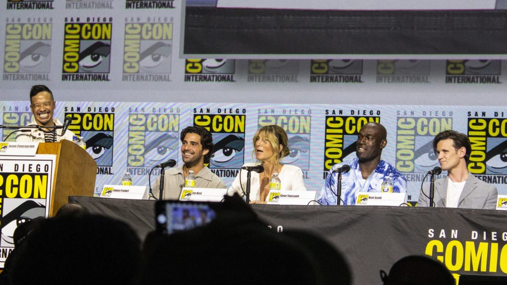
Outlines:
{"type": "Polygon", "coordinates": [[[468,170],[486,174],[480,178],[488,179],[488,183],[503,184],[503,175],[507,174],[507,118],[497,117],[498,112],[490,118],[476,115],[485,112],[468,112],[467,134],[472,144],[468,170]]]}

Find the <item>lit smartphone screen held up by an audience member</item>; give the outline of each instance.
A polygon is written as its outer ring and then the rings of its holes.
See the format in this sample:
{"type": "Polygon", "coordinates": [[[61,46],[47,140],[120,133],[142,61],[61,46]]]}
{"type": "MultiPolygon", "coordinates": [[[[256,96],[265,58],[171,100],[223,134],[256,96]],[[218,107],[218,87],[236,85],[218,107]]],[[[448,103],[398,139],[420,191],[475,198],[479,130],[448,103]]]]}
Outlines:
{"type": "Polygon", "coordinates": [[[171,234],[206,225],[216,213],[208,202],[181,202],[163,200],[155,204],[157,232],[171,234]]]}

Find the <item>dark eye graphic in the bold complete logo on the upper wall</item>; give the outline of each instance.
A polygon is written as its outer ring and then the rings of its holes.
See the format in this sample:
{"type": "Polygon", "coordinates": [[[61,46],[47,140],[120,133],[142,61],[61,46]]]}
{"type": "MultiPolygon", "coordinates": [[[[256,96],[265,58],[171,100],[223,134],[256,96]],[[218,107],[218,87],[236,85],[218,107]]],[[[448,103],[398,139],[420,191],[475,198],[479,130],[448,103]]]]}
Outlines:
{"type": "MultiPolygon", "coordinates": [[[[88,41],[81,42],[83,46],[88,41]]],[[[79,70],[85,73],[109,72],[109,54],[111,45],[104,42],[95,42],[79,54],[79,70]]]]}

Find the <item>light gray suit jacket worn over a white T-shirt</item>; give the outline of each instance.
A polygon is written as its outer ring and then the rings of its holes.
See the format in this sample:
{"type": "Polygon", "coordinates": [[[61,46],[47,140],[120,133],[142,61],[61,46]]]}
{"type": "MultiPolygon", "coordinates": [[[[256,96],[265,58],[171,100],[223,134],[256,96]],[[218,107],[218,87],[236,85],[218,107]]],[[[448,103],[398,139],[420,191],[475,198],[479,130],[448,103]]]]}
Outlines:
{"type": "MultiPolygon", "coordinates": [[[[435,181],[435,196],[433,202],[436,207],[446,207],[448,181],[449,176],[435,181]]],[[[424,193],[429,196],[429,187],[427,187],[424,193]]],[[[458,208],[495,209],[497,196],[498,191],[496,187],[477,179],[474,174],[468,172],[468,179],[463,187],[461,196],[459,196],[458,208]]],[[[428,207],[429,198],[419,193],[417,206],[428,207]]]]}

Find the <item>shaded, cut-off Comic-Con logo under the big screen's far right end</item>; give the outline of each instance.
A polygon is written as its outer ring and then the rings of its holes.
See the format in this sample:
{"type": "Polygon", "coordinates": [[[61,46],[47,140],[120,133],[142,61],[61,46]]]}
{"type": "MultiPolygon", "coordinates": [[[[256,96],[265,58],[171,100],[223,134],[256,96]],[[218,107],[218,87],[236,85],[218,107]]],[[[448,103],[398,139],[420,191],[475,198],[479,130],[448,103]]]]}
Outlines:
{"type": "Polygon", "coordinates": [[[447,60],[445,83],[499,84],[501,60],[447,60]]]}

